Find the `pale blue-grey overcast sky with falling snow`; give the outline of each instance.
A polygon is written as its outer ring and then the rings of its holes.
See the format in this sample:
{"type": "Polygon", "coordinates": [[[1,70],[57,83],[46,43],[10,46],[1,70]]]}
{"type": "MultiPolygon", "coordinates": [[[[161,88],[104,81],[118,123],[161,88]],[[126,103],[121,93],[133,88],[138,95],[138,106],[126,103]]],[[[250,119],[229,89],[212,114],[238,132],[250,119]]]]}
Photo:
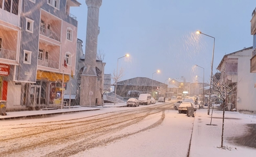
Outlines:
{"type": "MultiPolygon", "coordinates": [[[[78,38],[85,49],[87,6],[73,7],[78,20],[78,38]]],[[[213,39],[216,38],[215,68],[225,54],[252,46],[250,20],[255,0],[102,0],[99,12],[98,50],[106,54],[105,74],[117,68],[119,59],[124,79],[152,78],[157,81],[181,78],[193,82],[196,75],[210,77],[213,39]]],[[[84,51],[85,52],[85,51],[84,51]]],[[[248,60],[249,61],[249,60],[248,60]]],[[[248,69],[250,70],[249,67],[248,69]]],[[[199,79],[201,81],[202,79],[199,79]]]]}

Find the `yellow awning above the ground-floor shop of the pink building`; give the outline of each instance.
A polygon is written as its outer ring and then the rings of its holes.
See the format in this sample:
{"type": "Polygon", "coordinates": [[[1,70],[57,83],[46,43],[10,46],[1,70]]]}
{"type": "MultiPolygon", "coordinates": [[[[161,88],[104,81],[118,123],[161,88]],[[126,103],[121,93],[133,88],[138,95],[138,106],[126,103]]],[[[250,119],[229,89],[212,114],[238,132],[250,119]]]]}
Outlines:
{"type": "MultiPolygon", "coordinates": [[[[37,70],[36,79],[47,81],[62,81],[62,74],[37,70]]],[[[69,75],[64,74],[64,82],[69,81],[69,75]]]]}

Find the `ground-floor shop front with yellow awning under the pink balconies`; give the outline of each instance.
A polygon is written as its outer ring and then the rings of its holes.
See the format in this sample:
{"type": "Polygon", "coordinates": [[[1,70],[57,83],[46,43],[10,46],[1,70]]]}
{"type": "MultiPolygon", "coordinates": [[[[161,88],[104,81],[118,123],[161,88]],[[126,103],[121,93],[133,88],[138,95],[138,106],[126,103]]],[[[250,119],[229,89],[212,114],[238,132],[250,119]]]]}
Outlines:
{"type": "MultiPolygon", "coordinates": [[[[37,70],[36,83],[28,84],[27,106],[48,106],[62,96],[62,74],[37,70]]],[[[69,75],[64,75],[64,84],[69,75]]]]}

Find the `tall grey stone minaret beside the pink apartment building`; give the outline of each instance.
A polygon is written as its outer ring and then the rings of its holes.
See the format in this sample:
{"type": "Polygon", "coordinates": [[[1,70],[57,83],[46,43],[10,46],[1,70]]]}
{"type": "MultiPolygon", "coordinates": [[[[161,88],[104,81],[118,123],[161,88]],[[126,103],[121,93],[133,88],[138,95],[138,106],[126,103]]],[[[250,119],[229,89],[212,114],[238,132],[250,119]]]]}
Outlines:
{"type": "Polygon", "coordinates": [[[99,7],[102,0],[85,0],[88,7],[87,29],[85,45],[85,67],[81,75],[80,105],[90,105],[89,92],[92,91],[91,105],[95,105],[96,100],[96,55],[99,33],[99,7]]]}

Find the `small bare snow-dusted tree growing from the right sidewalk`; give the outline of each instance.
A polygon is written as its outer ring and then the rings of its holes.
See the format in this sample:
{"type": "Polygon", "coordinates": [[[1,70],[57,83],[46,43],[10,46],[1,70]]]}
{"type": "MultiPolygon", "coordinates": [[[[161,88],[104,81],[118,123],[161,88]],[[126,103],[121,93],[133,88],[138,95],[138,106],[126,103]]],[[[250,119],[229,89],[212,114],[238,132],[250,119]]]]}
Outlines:
{"type": "MultiPolygon", "coordinates": [[[[220,74],[219,74],[220,75],[220,74]]],[[[223,110],[223,117],[222,117],[222,135],[221,135],[221,148],[224,148],[223,146],[223,133],[224,133],[224,116],[225,116],[225,109],[227,108],[227,98],[228,96],[235,94],[237,91],[237,83],[232,83],[231,81],[226,79],[225,80],[225,60],[224,60],[224,68],[222,67],[222,76],[223,78],[217,79],[216,76],[213,75],[213,81],[212,85],[210,85],[210,88],[212,88],[212,93],[208,93],[211,96],[216,96],[219,99],[223,101],[223,105],[221,105],[223,110]]],[[[208,103],[208,105],[213,105],[213,101],[208,103]]],[[[213,111],[212,111],[213,112],[213,111]]],[[[212,121],[212,117],[211,117],[212,121]]],[[[210,124],[211,125],[211,124],[210,124]]]]}

